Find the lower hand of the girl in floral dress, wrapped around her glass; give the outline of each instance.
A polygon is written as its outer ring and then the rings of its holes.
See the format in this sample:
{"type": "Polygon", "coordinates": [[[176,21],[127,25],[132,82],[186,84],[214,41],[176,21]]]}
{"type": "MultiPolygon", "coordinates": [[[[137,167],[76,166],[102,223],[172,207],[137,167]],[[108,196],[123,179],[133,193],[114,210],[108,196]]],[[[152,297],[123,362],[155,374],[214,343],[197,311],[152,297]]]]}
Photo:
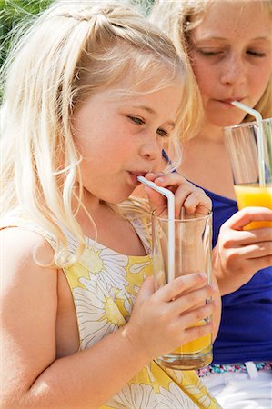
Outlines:
{"type": "Polygon", "coordinates": [[[212,333],[212,324],[192,326],[213,314],[216,305],[206,304],[214,294],[206,281],[205,274],[188,274],[155,292],[153,277],[146,278],[125,331],[134,348],[142,348],[146,361],[212,333]]]}

